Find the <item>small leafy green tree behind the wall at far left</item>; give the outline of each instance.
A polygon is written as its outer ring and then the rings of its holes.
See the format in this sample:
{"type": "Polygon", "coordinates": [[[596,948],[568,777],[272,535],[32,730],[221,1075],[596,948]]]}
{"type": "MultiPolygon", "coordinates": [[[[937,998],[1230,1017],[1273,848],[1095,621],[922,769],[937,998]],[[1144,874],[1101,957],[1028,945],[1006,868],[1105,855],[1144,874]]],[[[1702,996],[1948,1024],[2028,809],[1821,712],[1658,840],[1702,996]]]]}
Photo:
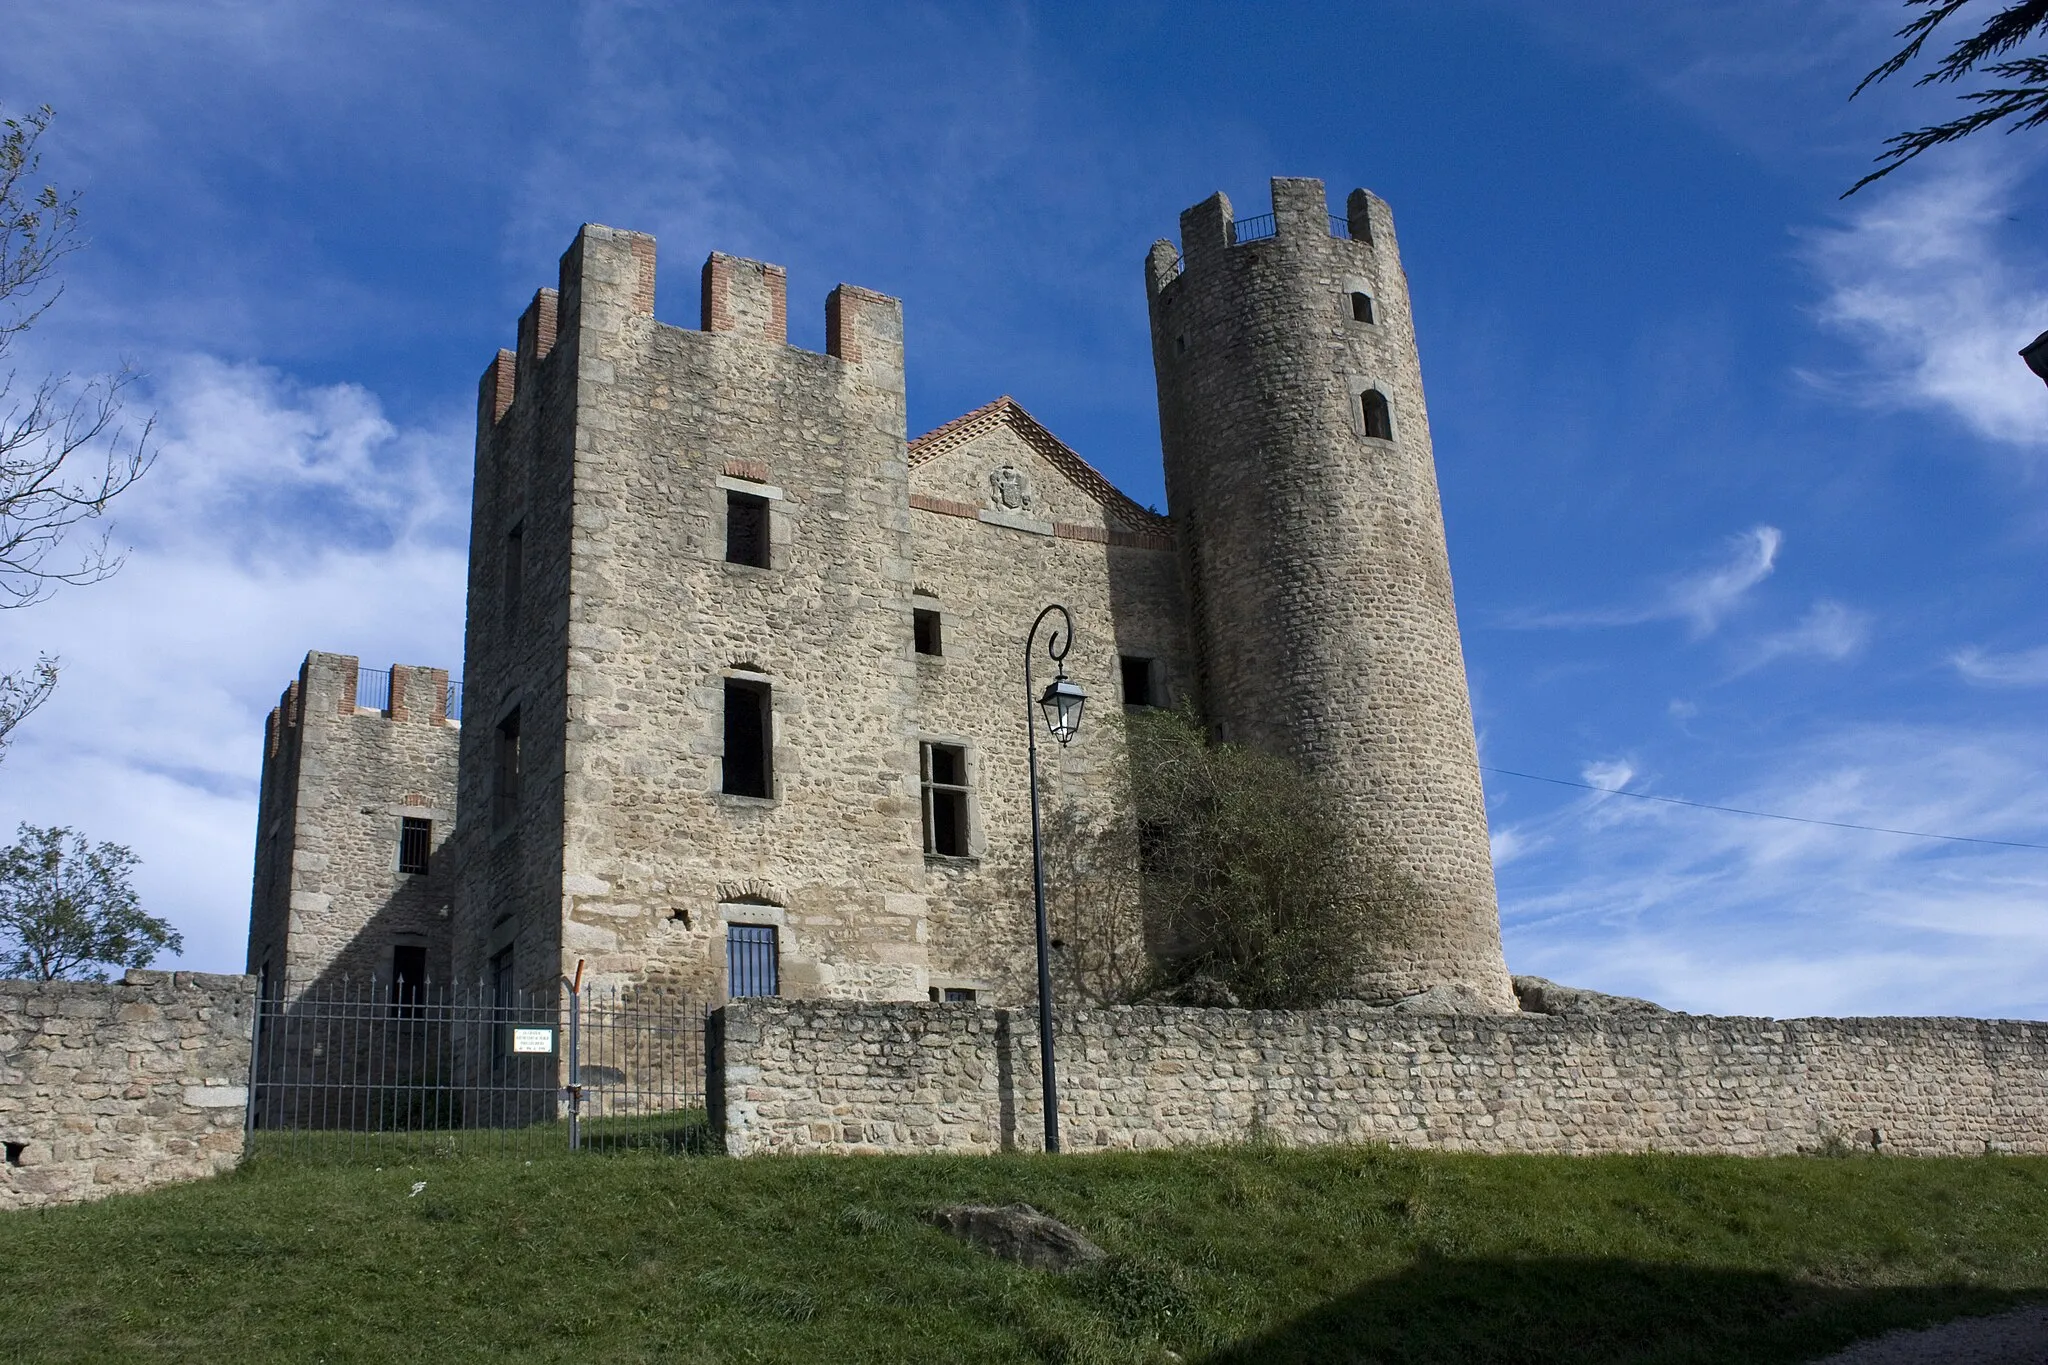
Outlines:
{"type": "Polygon", "coordinates": [[[145,915],[129,886],[137,857],[70,829],[23,825],[0,851],[0,970],[31,980],[106,980],[106,966],[150,966],[184,935],[145,915]]]}

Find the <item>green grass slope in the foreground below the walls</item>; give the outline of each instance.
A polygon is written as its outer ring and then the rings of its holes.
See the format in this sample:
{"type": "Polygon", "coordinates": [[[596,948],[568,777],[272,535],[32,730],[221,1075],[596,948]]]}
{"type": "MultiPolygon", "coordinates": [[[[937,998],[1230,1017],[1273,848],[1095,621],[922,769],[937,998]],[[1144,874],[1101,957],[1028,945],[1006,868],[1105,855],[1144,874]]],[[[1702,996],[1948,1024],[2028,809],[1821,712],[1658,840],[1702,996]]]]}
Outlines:
{"type": "Polygon", "coordinates": [[[0,1257],[6,1361],[1800,1361],[2048,1297],[2048,1158],[258,1154],[0,1257]]]}

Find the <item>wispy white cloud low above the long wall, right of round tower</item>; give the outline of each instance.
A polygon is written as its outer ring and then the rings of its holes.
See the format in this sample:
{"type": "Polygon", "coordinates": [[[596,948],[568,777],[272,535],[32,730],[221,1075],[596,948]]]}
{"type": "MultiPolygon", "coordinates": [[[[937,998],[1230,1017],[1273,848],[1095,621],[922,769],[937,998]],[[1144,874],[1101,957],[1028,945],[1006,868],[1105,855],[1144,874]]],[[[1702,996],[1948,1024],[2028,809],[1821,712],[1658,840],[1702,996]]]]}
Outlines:
{"type": "MultiPolygon", "coordinates": [[[[2048,733],[1853,726],[1743,786],[1817,821],[2048,843],[2048,733]]],[[[1587,765],[1616,786],[1626,765],[1587,765]]],[[[1640,786],[1640,784],[1638,784],[1640,786]]],[[[2048,851],[1581,794],[1511,827],[1509,964],[1708,1013],[2048,1017],[2048,851]],[[1626,810],[1622,810],[1626,806],[1626,810]]]]}

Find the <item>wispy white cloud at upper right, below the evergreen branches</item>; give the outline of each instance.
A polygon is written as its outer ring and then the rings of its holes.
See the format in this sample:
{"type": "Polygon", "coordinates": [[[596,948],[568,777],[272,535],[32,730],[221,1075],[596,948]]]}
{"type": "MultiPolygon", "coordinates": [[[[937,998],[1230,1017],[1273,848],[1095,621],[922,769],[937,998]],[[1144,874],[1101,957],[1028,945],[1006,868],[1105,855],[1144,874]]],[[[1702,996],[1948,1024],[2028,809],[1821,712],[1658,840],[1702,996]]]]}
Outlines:
{"type": "Polygon", "coordinates": [[[1862,368],[1808,379],[1860,403],[1948,413],[2034,458],[2048,450],[2048,389],[2017,354],[2048,317],[2048,270],[1999,239],[2028,166],[2003,141],[1954,149],[1927,178],[1860,194],[1845,227],[1810,233],[1821,321],[1858,346],[1862,368]]]}

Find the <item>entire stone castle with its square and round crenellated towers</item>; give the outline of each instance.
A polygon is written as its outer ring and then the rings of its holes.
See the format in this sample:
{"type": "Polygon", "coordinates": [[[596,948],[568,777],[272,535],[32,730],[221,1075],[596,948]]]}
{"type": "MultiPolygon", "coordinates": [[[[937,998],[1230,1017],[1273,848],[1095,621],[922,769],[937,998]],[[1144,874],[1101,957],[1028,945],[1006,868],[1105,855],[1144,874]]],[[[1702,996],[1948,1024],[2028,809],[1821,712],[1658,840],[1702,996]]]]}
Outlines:
{"type": "Polygon", "coordinates": [[[1192,700],[1421,888],[1360,999],[1509,1011],[1407,278],[1386,203],[1223,194],[1145,260],[1171,516],[1008,397],[905,440],[903,311],[586,225],[483,372],[449,673],[311,653],[270,714],[250,972],[707,999],[1034,995],[1024,634],[1092,704],[1042,792],[1112,812],[1124,708],[1192,700]],[[1120,706],[1118,706],[1120,704],[1120,706]]]}

